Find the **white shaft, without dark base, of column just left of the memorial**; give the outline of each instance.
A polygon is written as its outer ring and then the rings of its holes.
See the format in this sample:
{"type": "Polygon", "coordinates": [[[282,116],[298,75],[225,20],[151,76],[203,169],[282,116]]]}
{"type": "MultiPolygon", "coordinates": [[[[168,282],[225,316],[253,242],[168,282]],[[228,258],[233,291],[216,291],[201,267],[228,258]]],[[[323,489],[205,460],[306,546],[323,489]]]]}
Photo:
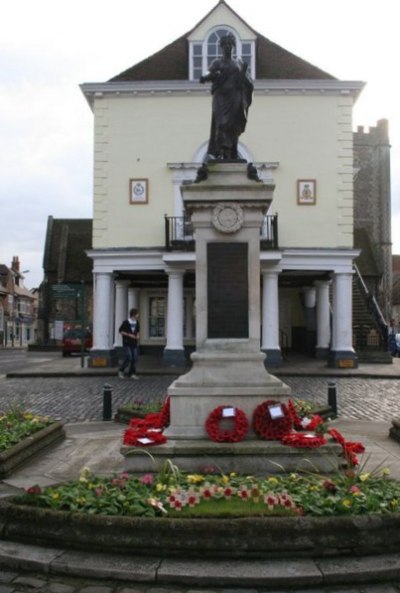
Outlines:
{"type": "Polygon", "coordinates": [[[183,350],[183,275],[184,270],[167,270],[168,309],[166,350],[183,350]]]}

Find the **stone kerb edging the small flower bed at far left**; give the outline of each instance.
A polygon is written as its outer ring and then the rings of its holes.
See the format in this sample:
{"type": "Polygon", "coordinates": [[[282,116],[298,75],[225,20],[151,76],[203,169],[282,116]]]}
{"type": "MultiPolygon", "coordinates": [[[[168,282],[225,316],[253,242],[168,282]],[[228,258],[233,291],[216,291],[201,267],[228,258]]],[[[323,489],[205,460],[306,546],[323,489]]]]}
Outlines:
{"type": "Polygon", "coordinates": [[[52,422],[41,430],[34,432],[19,443],[0,453],[0,480],[4,480],[23,463],[45,447],[53,445],[65,438],[65,430],[61,422],[52,422]]]}

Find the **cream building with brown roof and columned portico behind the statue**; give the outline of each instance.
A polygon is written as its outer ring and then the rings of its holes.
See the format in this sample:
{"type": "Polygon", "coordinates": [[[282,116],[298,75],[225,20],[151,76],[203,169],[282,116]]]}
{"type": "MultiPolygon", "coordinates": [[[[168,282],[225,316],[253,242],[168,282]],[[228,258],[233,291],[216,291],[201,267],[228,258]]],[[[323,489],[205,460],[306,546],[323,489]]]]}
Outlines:
{"type": "Polygon", "coordinates": [[[275,185],[260,229],[261,344],[356,366],[352,341],[352,108],[363,83],[340,81],[254,31],[221,0],[192,31],[82,91],[94,114],[94,344],[112,365],[135,306],[141,346],[166,365],[195,344],[195,237],[181,186],[205,157],[209,85],[198,82],[230,32],[254,82],[241,157],[275,185]]]}

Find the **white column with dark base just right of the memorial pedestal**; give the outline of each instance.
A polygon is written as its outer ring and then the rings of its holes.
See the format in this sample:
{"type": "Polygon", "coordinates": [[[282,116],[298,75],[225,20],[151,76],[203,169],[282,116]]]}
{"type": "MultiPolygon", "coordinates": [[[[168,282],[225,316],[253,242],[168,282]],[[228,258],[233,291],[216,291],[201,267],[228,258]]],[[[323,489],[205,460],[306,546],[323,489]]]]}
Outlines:
{"type": "Polygon", "coordinates": [[[262,344],[267,354],[265,366],[280,366],[283,362],[279,344],[279,292],[276,270],[262,271],[262,344]]]}

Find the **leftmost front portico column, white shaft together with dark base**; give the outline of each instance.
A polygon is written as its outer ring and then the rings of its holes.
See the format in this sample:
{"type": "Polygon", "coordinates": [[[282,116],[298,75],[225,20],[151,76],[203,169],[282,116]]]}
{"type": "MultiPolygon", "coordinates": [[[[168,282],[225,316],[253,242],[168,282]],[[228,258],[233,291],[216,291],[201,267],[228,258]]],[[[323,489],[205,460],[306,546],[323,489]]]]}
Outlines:
{"type": "Polygon", "coordinates": [[[94,274],[93,294],[93,348],[90,351],[90,366],[115,366],[115,350],[112,348],[112,272],[94,274]]]}

